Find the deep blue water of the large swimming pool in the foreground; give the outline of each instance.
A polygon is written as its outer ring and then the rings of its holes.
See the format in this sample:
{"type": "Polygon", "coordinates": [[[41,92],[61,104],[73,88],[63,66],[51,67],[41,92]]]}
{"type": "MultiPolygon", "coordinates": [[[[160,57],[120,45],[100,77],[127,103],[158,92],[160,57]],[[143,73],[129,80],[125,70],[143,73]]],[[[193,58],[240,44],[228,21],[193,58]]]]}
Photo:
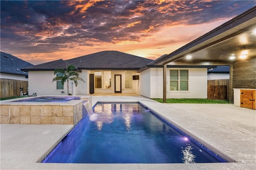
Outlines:
{"type": "Polygon", "coordinates": [[[139,103],[101,103],[43,160],[46,163],[220,162],[139,103]]]}

